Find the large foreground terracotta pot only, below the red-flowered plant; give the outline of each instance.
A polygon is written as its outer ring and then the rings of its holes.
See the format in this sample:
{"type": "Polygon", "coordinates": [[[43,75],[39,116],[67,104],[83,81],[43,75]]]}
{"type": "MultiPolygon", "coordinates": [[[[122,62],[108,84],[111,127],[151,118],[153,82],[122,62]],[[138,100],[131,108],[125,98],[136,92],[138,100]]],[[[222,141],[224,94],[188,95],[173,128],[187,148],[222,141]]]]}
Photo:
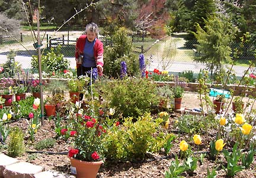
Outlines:
{"type": "Polygon", "coordinates": [[[71,160],[71,174],[76,178],[95,178],[101,164],[103,164],[103,161],[87,162],[69,156],[68,158],[71,160]]]}

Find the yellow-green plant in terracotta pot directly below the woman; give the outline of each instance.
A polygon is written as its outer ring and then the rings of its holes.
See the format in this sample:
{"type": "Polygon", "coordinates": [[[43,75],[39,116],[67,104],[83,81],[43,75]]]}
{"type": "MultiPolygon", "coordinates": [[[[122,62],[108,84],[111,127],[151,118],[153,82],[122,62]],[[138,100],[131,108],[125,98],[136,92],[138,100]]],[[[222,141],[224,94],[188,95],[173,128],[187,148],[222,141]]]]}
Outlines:
{"type": "Polygon", "coordinates": [[[77,78],[72,78],[68,80],[68,88],[69,88],[69,97],[71,98],[71,102],[75,103],[79,101],[79,93],[82,93],[84,88],[88,83],[89,78],[82,76],[77,78]]]}

